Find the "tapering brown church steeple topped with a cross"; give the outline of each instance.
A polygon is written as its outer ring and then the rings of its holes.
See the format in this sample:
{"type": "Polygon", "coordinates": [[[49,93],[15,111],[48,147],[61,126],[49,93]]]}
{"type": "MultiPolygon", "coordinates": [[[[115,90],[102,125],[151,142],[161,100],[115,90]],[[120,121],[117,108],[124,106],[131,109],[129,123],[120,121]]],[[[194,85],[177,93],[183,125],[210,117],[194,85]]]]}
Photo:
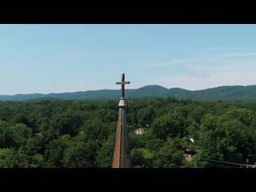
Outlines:
{"type": "Polygon", "coordinates": [[[127,105],[125,100],[125,74],[122,74],[122,82],[117,82],[117,85],[122,85],[122,97],[120,98],[119,112],[118,112],[118,127],[115,139],[113,168],[130,168],[130,144],[129,131],[127,125],[127,105]]]}

